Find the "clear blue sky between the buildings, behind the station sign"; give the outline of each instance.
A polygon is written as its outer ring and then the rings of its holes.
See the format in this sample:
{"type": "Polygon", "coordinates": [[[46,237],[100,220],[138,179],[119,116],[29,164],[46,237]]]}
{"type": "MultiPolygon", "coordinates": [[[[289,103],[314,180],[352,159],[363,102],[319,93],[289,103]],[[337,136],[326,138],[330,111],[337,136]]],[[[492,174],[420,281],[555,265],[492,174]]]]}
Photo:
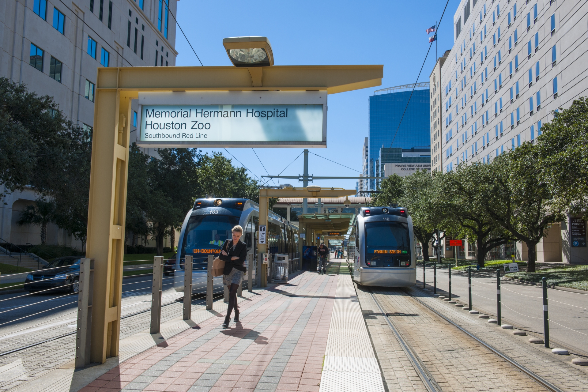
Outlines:
{"type": "MultiPolygon", "coordinates": [[[[440,56],[453,45],[453,14],[459,1],[449,0],[439,25],[440,56]]],[[[203,65],[231,65],[222,46],[230,36],[267,36],[276,65],[383,64],[382,86],[329,95],[326,149],[310,149],[340,165],[309,154],[315,176],[353,176],[362,169],[363,139],[368,136],[368,97],[376,89],[414,83],[429,49],[425,30],[440,19],[443,1],[178,1],[178,23],[203,65]]],[[[432,36],[430,34],[429,36],[432,36]]],[[[177,29],[178,66],[200,65],[177,29]]],[[[435,65],[435,43],[419,82],[429,81],[435,65]]],[[[212,149],[202,149],[209,152],[212,149]]],[[[226,152],[220,150],[225,155],[226,152]]],[[[277,175],[302,149],[228,149],[256,176],[277,175]]],[[[229,156],[229,158],[232,158],[229,156]]],[[[233,159],[233,164],[241,166],[233,159]]],[[[282,175],[303,172],[300,156],[282,175]]],[[[251,175],[251,174],[250,174],[251,175]]],[[[296,180],[280,180],[302,186],[296,180]]],[[[316,180],[313,185],[355,189],[356,180],[316,180]]],[[[278,184],[278,180],[269,185],[278,184]]]]}

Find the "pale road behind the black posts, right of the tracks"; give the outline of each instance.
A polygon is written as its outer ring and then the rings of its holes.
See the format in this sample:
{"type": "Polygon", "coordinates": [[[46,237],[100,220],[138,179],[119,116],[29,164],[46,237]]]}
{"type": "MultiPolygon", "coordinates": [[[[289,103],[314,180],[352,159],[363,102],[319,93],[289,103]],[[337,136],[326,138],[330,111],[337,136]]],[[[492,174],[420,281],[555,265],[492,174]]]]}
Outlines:
{"type": "MultiPolygon", "coordinates": [[[[501,274],[502,276],[504,273],[501,274]]],[[[452,297],[468,303],[467,272],[451,273],[452,297]]],[[[417,268],[417,283],[423,282],[423,267],[417,268]]],[[[542,288],[501,279],[501,315],[503,324],[543,334],[542,288]]],[[[433,269],[426,269],[427,288],[433,286],[433,269]],[[430,286],[430,287],[429,287],[430,286]]],[[[447,269],[437,269],[437,287],[447,291],[447,269]]],[[[421,286],[422,287],[422,286],[421,286]]],[[[549,303],[549,335],[553,340],[579,354],[588,355],[588,292],[586,294],[547,290],[549,303]]],[[[496,316],[496,273],[472,272],[472,306],[490,316],[496,316]]]]}

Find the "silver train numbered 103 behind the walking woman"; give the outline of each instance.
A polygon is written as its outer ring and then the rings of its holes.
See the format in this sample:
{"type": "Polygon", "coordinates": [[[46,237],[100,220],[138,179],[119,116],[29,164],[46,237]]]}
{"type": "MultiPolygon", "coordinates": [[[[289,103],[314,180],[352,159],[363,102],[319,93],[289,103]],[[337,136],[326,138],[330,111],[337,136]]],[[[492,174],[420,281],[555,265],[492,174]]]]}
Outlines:
{"type": "MultiPolygon", "coordinates": [[[[232,238],[231,229],[235,225],[243,227],[241,240],[247,244],[247,260],[256,260],[257,234],[259,232],[259,205],[249,199],[233,199],[215,197],[196,199],[194,206],[188,211],[183,221],[178,239],[173,287],[183,291],[183,271],[186,255],[193,257],[192,292],[206,292],[206,270],[208,255],[215,257],[226,239],[232,238]]],[[[298,251],[298,225],[268,211],[268,227],[266,227],[268,253],[288,254],[292,260],[298,251]]],[[[253,263],[253,282],[257,278],[258,266],[253,263]]],[[[248,273],[245,273],[243,287],[246,287],[248,273]]],[[[213,291],[222,292],[222,276],[215,277],[213,291]]]]}

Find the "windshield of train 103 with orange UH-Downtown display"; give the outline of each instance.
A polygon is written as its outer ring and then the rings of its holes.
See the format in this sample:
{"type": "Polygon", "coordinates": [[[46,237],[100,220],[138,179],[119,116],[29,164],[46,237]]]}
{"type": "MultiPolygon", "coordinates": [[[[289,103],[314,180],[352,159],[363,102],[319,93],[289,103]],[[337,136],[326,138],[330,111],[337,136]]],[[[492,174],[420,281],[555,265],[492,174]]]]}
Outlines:
{"type": "Polygon", "coordinates": [[[181,257],[206,257],[220,253],[220,247],[231,238],[230,229],[239,225],[239,217],[225,215],[196,215],[190,217],[184,234],[181,257]]]}

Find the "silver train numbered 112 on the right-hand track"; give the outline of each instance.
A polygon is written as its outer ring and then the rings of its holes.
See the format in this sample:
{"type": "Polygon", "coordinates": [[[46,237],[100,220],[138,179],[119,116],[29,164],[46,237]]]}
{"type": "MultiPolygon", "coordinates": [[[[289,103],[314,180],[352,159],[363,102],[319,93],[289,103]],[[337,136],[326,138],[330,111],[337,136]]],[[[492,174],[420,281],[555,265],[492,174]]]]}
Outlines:
{"type": "Polygon", "coordinates": [[[416,244],[406,208],[362,207],[353,231],[355,282],[387,287],[416,284],[416,244]]]}

